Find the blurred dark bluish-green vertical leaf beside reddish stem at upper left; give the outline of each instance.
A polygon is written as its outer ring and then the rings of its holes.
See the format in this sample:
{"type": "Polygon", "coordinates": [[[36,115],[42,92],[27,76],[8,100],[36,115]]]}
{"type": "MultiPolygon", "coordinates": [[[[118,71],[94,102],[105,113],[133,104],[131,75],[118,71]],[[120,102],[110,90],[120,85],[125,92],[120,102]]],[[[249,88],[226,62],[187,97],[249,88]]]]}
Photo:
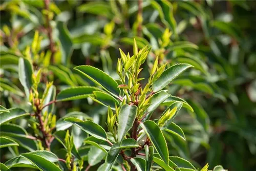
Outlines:
{"type": "Polygon", "coordinates": [[[72,39],[67,26],[63,22],[58,22],[57,28],[59,31],[61,63],[67,65],[70,62],[70,56],[73,52],[72,39]]]}

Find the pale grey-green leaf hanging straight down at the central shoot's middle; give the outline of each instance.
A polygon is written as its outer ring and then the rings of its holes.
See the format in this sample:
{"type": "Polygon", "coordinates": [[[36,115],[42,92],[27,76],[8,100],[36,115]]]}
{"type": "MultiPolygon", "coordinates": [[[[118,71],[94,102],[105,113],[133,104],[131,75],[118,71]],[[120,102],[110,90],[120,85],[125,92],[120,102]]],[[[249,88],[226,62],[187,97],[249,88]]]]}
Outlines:
{"type": "Polygon", "coordinates": [[[121,106],[119,117],[118,117],[118,129],[117,136],[118,141],[121,143],[123,137],[132,128],[133,122],[137,114],[137,106],[124,104],[121,106]]]}

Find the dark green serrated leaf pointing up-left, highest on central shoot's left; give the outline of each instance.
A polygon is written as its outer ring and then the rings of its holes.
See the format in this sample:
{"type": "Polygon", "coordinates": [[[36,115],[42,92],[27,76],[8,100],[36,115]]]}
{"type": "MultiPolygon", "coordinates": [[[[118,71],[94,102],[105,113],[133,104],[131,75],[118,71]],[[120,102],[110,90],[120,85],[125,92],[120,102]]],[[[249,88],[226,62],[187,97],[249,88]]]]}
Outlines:
{"type": "Polygon", "coordinates": [[[118,83],[108,74],[92,66],[78,66],[74,69],[81,72],[83,75],[91,79],[94,83],[98,84],[98,86],[101,86],[106,91],[113,93],[117,97],[119,96],[120,89],[117,88],[118,83]]]}

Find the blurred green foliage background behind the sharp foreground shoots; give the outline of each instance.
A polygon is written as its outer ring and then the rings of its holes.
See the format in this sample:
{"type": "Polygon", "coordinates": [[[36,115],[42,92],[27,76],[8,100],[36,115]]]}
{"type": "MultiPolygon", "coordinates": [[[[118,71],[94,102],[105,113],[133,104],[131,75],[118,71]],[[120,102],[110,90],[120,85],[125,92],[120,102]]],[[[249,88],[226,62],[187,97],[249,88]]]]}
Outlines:
{"type": "MultiPolygon", "coordinates": [[[[69,86],[93,85],[73,70],[77,65],[92,65],[117,79],[119,48],[132,54],[135,38],[139,48],[152,47],[141,77],[148,77],[156,56],[160,66],[184,62],[195,67],[168,87],[169,93],[184,98],[194,109],[182,110],[176,118],[186,141],[170,135],[170,153],[199,167],[208,162],[211,169],[221,164],[231,171],[253,171],[255,24],[254,0],[2,0],[1,104],[26,108],[17,73],[20,56],[31,56],[34,68],[44,68],[41,81],[54,81],[58,92],[69,86]],[[36,34],[41,41],[39,54],[27,54],[36,34]]],[[[168,100],[154,115],[167,105],[168,100]]],[[[72,111],[85,112],[105,126],[107,109],[90,99],[59,103],[55,114],[61,117],[72,111]]],[[[0,154],[0,162],[10,158],[3,149],[0,154]]]]}

